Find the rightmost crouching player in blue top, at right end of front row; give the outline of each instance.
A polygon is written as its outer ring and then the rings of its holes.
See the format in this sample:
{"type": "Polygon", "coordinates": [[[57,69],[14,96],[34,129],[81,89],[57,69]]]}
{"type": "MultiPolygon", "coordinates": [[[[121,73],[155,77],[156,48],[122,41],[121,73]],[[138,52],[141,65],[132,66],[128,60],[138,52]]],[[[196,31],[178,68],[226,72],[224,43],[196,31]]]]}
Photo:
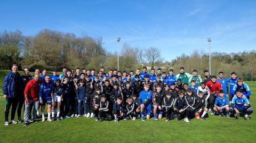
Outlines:
{"type": "Polygon", "coordinates": [[[242,90],[236,91],[236,97],[233,97],[231,102],[231,107],[229,112],[234,115],[235,119],[238,119],[240,113],[245,113],[244,120],[248,119],[248,115],[253,113],[253,108],[251,107],[248,99],[242,97],[242,90]]]}

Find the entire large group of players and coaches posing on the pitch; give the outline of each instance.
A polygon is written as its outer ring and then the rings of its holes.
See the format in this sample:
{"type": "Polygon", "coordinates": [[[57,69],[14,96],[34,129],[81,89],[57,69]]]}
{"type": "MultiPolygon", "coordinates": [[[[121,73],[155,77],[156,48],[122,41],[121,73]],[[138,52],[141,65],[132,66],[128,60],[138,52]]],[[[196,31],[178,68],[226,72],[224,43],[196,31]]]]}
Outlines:
{"type": "Polygon", "coordinates": [[[5,123],[22,122],[21,111],[24,106],[24,125],[37,122],[41,111],[42,121],[70,119],[71,117],[95,117],[95,121],[136,120],[145,121],[154,117],[155,121],[166,117],[166,122],[177,118],[190,122],[191,119],[205,120],[207,112],[211,115],[234,116],[238,119],[243,113],[244,119],[253,113],[249,86],[235,72],[230,78],[218,78],[205,70],[205,77],[193,70],[186,73],[169,74],[161,69],[143,67],[143,71],[95,70],[62,68],[62,74],[48,75],[35,70],[32,77],[29,69],[20,75],[18,66],[4,78],[3,94],[5,100],[5,123]],[[45,117],[47,106],[47,119],[45,117]],[[11,109],[11,122],[9,111],[11,109]],[[40,109],[40,111],[39,111],[40,109]],[[14,120],[15,112],[18,122],[14,120]]]}

